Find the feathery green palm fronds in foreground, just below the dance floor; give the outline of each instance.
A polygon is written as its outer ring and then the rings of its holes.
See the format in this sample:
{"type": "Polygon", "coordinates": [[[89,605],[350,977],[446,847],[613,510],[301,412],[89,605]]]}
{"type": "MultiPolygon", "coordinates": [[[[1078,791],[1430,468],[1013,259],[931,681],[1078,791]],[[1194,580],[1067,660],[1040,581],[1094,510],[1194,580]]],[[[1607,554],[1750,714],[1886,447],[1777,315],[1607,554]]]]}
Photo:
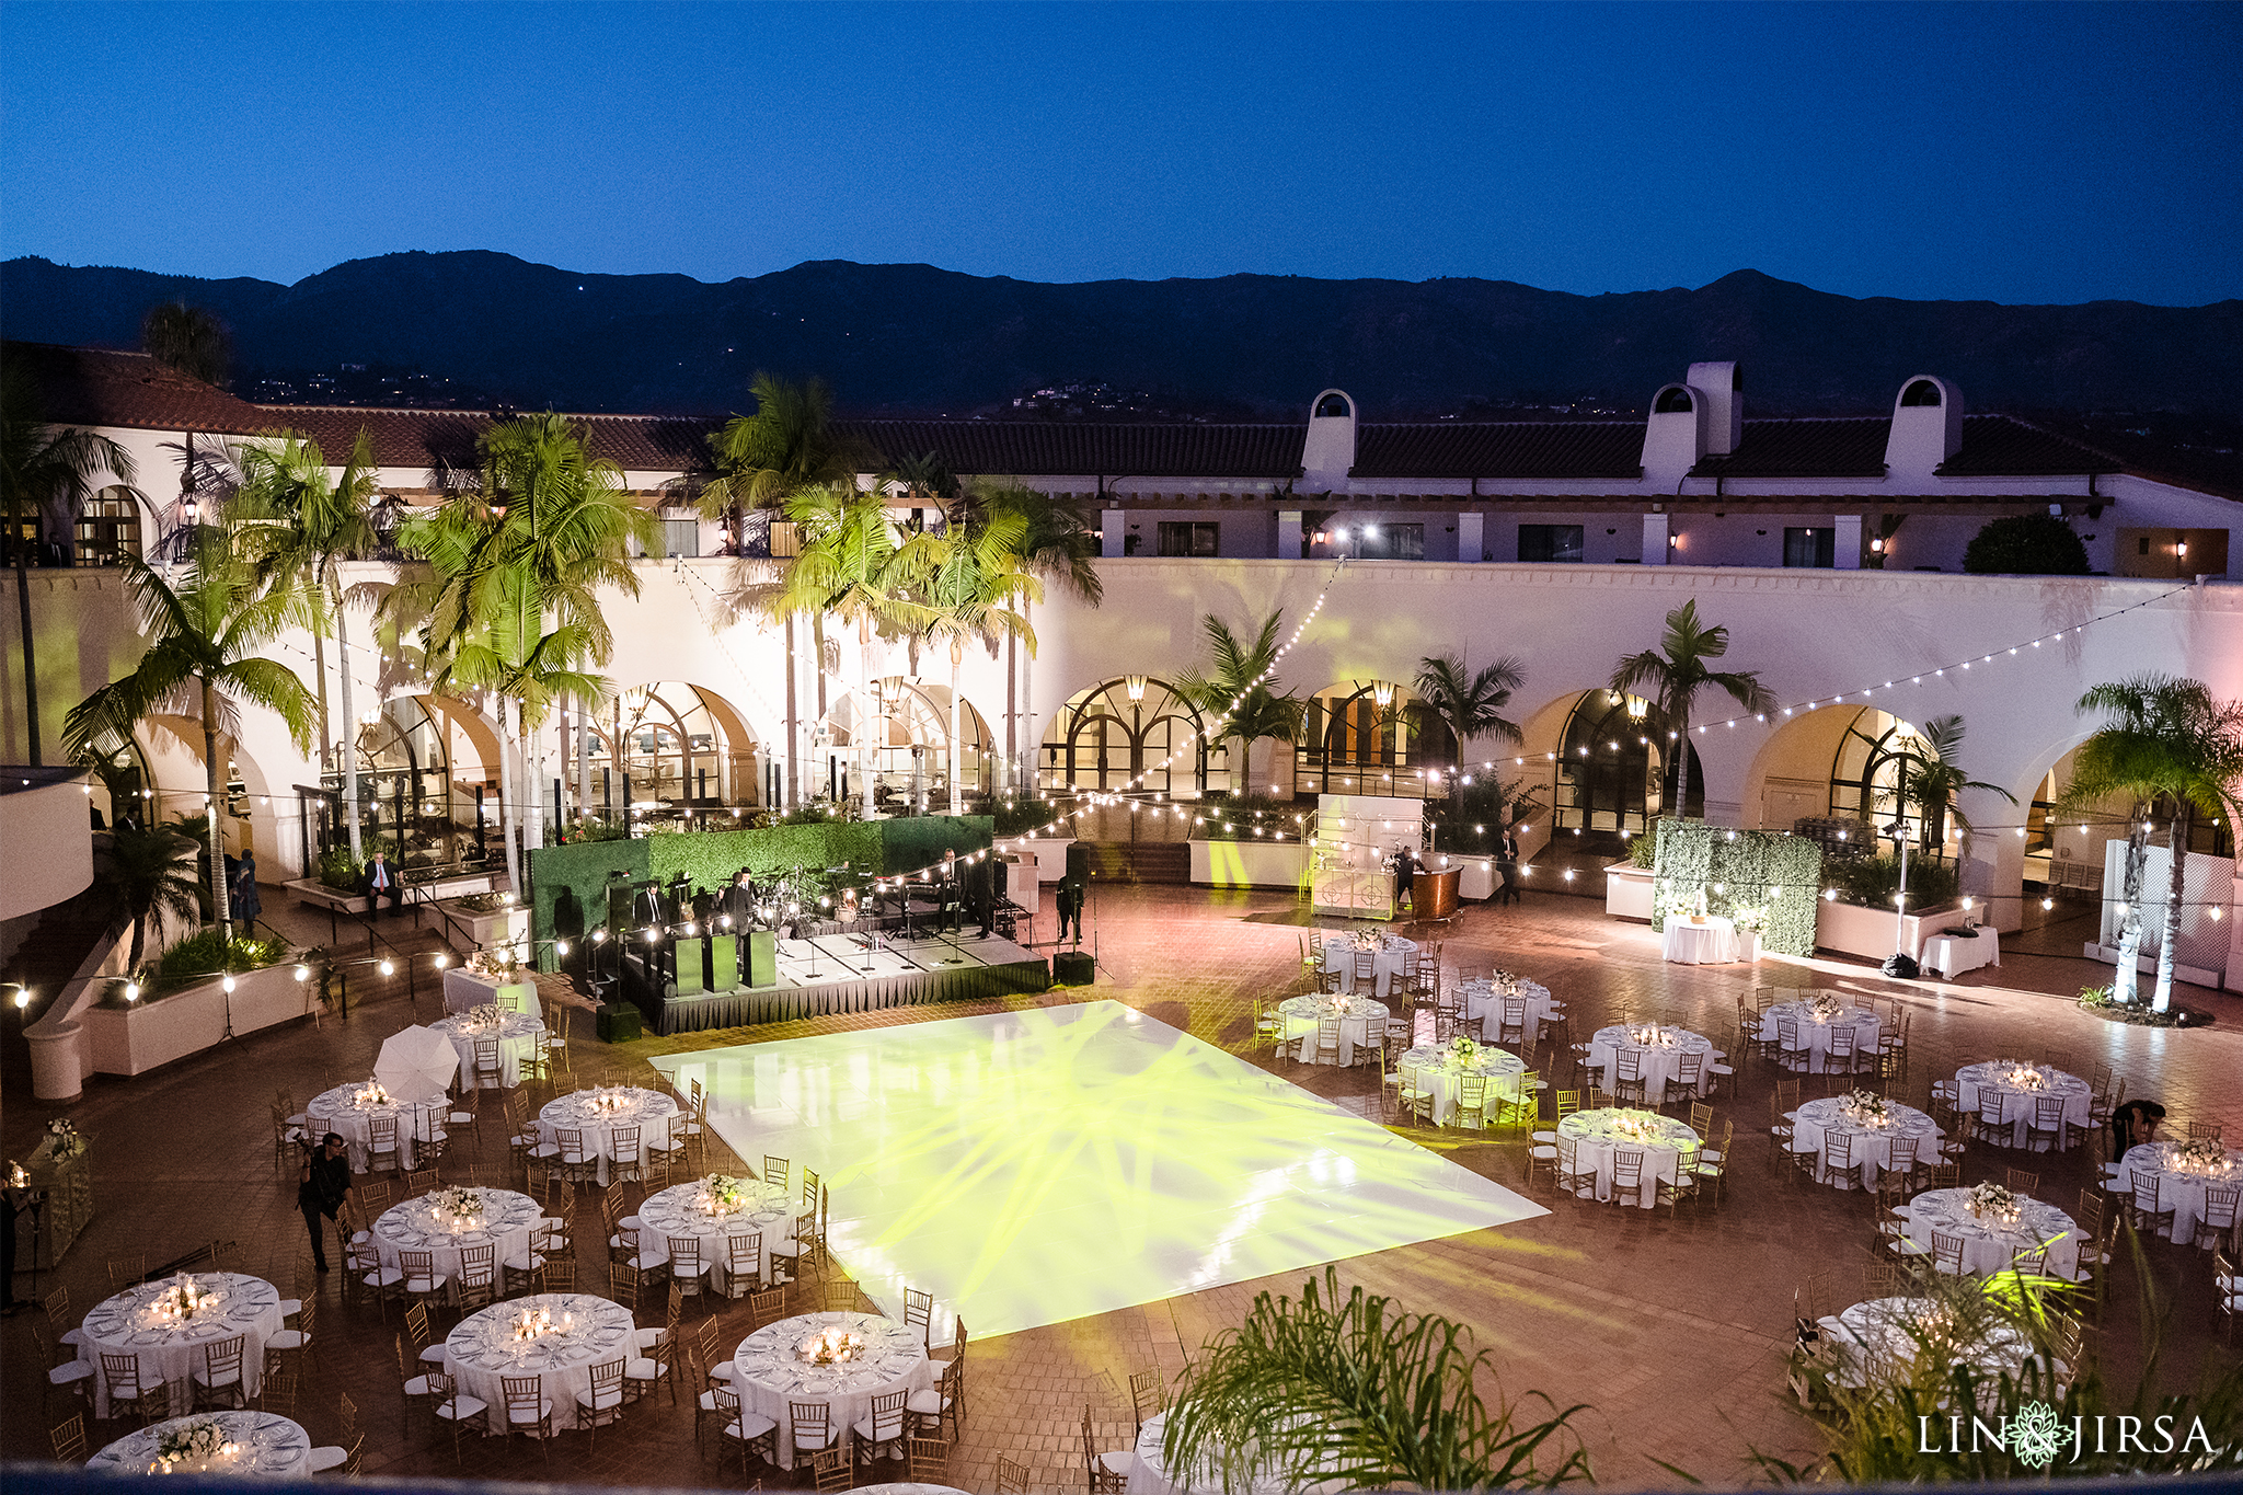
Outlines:
{"type": "Polygon", "coordinates": [[[1431,1313],[1404,1313],[1362,1287],[1339,1293],[1337,1269],[1301,1298],[1261,1293],[1184,1367],[1169,1410],[1169,1468],[1216,1470],[1222,1488],[1496,1491],[1588,1479],[1570,1419],[1523,1421],[1489,1408],[1476,1385],[1494,1352],[1431,1313]],[[1543,1464],[1548,1459],[1548,1466],[1543,1464]]]}

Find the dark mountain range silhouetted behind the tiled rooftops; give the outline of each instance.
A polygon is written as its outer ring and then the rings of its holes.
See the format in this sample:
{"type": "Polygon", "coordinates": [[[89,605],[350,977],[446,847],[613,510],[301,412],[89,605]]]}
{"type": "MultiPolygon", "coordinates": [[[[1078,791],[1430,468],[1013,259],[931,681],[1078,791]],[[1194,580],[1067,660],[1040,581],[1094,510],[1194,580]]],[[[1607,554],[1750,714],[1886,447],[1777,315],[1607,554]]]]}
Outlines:
{"type": "Polygon", "coordinates": [[[489,251],[390,253],[278,285],[27,256],[0,264],[0,296],[7,336],[99,347],[137,347],[161,300],[209,307],[233,332],[238,390],[397,368],[561,410],[722,415],[772,370],[825,377],[850,415],[1012,417],[1014,399],[1079,381],[1151,392],[1173,415],[1301,417],[1337,386],[1373,419],[1487,419],[1642,410],[1698,359],[1741,361],[1754,415],[1886,410],[1918,372],[1951,377],[1981,410],[2243,410],[2243,300],[1859,300],[1750,269],[1575,296],[1474,278],[1045,285],[848,260],[711,285],[489,251]]]}

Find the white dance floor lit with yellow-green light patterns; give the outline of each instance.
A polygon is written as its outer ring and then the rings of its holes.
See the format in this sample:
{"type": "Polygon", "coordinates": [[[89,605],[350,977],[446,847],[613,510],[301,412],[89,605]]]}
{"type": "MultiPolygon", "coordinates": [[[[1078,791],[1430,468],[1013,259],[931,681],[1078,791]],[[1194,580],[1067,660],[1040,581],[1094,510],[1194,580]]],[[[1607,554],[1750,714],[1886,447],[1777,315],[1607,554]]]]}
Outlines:
{"type": "Polygon", "coordinates": [[[671,1053],[751,1166],[816,1168],[888,1311],[976,1336],[1543,1215],[1117,1002],[671,1053]]]}

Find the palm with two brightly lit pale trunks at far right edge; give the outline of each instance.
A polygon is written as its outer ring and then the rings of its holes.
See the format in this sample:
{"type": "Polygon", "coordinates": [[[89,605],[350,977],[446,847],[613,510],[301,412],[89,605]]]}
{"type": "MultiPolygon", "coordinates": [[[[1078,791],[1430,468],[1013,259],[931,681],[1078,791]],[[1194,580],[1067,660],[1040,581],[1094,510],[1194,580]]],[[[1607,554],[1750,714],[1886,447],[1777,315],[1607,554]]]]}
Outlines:
{"type": "Polygon", "coordinates": [[[2171,811],[2164,845],[2171,852],[2164,894],[2164,937],[2158,948],[2153,1011],[2173,1004],[2173,946],[2180,941],[2180,897],[2189,852],[2189,820],[2225,814],[2243,816],[2243,702],[2214,699],[2203,681],[2173,675],[2131,675],[2095,686],[2077,711],[2115,717],[2079,744],[2073,778],[2057,798],[2057,814],[2075,814],[2113,793],[2129,793],[2126,899],[2120,926],[2113,988],[2126,1004],[2135,1000],[2135,962],[2142,948],[2142,849],[2149,843],[2147,814],[2171,811]]]}

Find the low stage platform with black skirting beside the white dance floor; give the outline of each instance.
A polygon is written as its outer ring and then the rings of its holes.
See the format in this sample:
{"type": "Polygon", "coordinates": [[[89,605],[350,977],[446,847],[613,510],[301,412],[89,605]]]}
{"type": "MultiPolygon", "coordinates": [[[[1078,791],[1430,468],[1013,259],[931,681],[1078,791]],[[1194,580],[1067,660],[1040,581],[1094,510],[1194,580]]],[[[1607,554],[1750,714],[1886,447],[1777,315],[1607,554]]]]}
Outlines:
{"type": "MultiPolygon", "coordinates": [[[[819,1013],[866,1013],[924,1002],[976,1002],[1047,991],[1052,964],[1009,939],[969,935],[816,935],[778,941],[776,986],[733,986],[666,995],[657,1009],[639,1002],[657,1033],[698,1033],[819,1013]]],[[[644,991],[644,986],[639,986],[644,991]]],[[[675,988],[673,988],[675,991],[675,988]]]]}

